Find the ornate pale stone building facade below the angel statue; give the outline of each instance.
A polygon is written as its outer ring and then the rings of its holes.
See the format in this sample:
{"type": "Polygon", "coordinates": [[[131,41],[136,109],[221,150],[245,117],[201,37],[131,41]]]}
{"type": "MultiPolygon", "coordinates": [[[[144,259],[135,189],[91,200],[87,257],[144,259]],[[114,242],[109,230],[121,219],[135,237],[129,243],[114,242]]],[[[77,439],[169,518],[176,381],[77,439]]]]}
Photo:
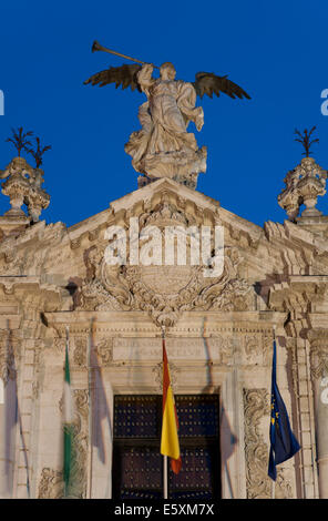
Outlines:
{"type": "Polygon", "coordinates": [[[314,212],[295,217],[294,206],[293,221],[262,228],[162,178],[69,228],[44,221],[31,225],[17,214],[1,217],[2,497],[62,497],[69,326],[73,497],[111,497],[113,396],[161,394],[165,327],[174,391],[219,395],[227,419],[221,432],[222,497],[328,498],[328,221],[314,212]],[[131,217],[140,231],[222,226],[222,275],[206,278],[191,265],[107,266],[105,231],[129,229],[131,217]],[[278,467],[275,489],[267,476],[274,326],[279,390],[301,445],[278,467]],[[96,365],[90,371],[91,329],[96,365]],[[16,390],[19,420],[8,423],[6,403],[16,390]],[[101,426],[101,456],[91,443],[90,400],[101,426]]]}

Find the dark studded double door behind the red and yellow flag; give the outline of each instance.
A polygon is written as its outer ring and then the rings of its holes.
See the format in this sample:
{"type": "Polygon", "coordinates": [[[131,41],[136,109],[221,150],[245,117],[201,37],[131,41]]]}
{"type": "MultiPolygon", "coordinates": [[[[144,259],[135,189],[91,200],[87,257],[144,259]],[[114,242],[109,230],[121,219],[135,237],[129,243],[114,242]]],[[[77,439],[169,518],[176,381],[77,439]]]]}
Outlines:
{"type": "MultiPolygon", "coordinates": [[[[170,499],[219,498],[218,396],[177,395],[182,470],[172,472],[170,499]]],[[[114,499],[163,498],[160,453],[162,396],[116,396],[114,401],[114,499]]]]}

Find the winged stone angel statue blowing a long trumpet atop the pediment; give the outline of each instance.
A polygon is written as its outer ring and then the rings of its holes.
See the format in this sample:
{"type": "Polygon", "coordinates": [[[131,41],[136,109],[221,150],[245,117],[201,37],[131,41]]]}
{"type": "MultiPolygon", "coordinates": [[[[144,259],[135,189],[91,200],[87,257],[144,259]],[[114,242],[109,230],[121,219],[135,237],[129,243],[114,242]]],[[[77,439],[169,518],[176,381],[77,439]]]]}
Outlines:
{"type": "MultiPolygon", "coordinates": [[[[105,51],[134,60],[94,42],[93,51],[105,51]]],[[[100,86],[115,83],[123,89],[130,86],[144,92],[147,101],[140,106],[141,130],[133,132],[125,144],[125,152],[132,156],[132,165],[143,174],[140,186],[161,177],[171,177],[195,188],[199,172],[206,172],[206,146],[198,149],[195,135],[187,131],[193,122],[201,131],[204,113],[196,106],[196,98],[204,94],[219,96],[221,92],[230,98],[249,95],[227,76],[198,72],[194,82],[175,80],[175,68],[165,62],[160,68],[160,78],[153,76],[156,68],[151,63],[111,67],[93,74],[84,83],[100,86]]],[[[156,68],[158,69],[158,68],[156,68]]]]}

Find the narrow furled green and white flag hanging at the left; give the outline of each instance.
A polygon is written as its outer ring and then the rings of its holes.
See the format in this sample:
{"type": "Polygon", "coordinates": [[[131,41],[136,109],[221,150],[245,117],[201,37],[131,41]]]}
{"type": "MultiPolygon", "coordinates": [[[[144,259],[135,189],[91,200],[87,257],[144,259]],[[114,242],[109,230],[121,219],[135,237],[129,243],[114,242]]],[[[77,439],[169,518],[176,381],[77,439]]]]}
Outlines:
{"type": "Polygon", "coordinates": [[[66,333],[65,348],[65,377],[64,377],[64,496],[69,494],[71,486],[71,470],[73,460],[73,396],[71,389],[70,358],[69,358],[69,335],[66,333]]]}

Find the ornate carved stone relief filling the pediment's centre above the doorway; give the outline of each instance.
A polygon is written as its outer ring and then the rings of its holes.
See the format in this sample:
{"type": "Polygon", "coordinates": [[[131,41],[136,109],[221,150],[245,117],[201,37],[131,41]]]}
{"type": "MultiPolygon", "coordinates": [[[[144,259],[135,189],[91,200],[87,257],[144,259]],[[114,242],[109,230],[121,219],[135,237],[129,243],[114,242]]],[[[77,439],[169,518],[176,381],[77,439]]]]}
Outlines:
{"type": "MultiPolygon", "coordinates": [[[[194,193],[194,201],[183,197],[182,193],[172,190],[166,180],[158,183],[157,188],[161,190],[152,191],[148,198],[135,201],[126,210],[113,205],[112,219],[107,225],[120,226],[123,235],[125,233],[130,238],[129,242],[123,237],[126,242],[124,263],[113,265],[107,262],[109,241],[105,237],[109,234],[105,232],[104,238],[85,252],[88,275],[79,288],[76,309],[143,310],[157,326],[173,326],[183,311],[252,308],[253,285],[238,276],[238,265],[243,260],[238,248],[222,244],[223,264],[218,272],[211,272],[211,266],[215,266],[214,259],[218,258],[215,247],[211,249],[211,259],[204,260],[206,256],[201,252],[199,262],[192,262],[195,245],[203,245],[205,241],[202,235],[204,227],[207,231],[219,228],[224,233],[218,204],[212,201],[208,204],[207,198],[197,193],[194,193]],[[197,204],[196,197],[203,201],[203,206],[197,204]],[[134,239],[139,242],[139,263],[132,263],[135,246],[132,244],[131,218],[136,227],[134,239]],[[175,227],[185,236],[177,237],[174,262],[167,264],[164,259],[167,245],[164,243],[167,228],[175,227]],[[161,241],[160,246],[156,243],[161,253],[155,262],[154,257],[151,258],[150,235],[145,234],[145,231],[153,229],[157,241],[161,241]],[[195,242],[197,234],[198,238],[202,235],[199,243],[195,242]],[[182,242],[186,247],[185,263],[180,262],[177,252],[182,242]],[[146,262],[141,262],[143,248],[148,248],[146,262]]],[[[152,254],[154,256],[154,252],[152,254]]]]}

